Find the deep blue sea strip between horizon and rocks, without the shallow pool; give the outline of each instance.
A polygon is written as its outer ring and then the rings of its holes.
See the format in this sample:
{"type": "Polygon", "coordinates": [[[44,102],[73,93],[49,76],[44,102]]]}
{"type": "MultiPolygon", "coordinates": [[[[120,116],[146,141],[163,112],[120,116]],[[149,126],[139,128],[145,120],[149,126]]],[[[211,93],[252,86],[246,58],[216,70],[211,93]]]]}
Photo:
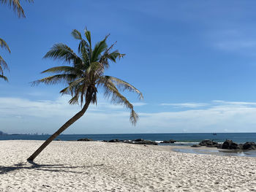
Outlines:
{"type": "MultiPolygon", "coordinates": [[[[7,134],[0,135],[0,140],[23,139],[23,140],[45,140],[50,135],[32,135],[32,134],[7,134]]],[[[192,145],[200,142],[203,139],[213,139],[216,142],[225,142],[226,139],[231,139],[236,143],[256,142],[256,133],[195,133],[195,134],[61,134],[56,139],[62,141],[73,141],[81,138],[89,138],[97,141],[110,139],[147,139],[151,141],[164,141],[174,139],[177,141],[174,145],[192,145]]]]}

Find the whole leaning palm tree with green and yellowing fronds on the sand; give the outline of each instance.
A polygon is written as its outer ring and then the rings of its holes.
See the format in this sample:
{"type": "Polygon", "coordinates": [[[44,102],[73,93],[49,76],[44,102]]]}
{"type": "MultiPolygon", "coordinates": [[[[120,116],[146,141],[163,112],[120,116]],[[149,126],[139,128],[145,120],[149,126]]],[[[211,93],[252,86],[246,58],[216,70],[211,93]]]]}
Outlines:
{"type": "Polygon", "coordinates": [[[108,47],[106,36],[101,42],[97,42],[94,49],[91,47],[91,32],[85,29],[86,39],[82,38],[79,31],[73,30],[72,36],[80,41],[78,45],[78,55],[62,43],[53,45],[53,47],[46,53],[44,58],[53,58],[60,61],[66,61],[71,66],[56,66],[45,70],[42,73],[53,73],[49,77],[42,78],[33,82],[33,85],[45,83],[46,85],[53,85],[59,82],[64,82],[67,87],[60,91],[63,94],[69,94],[72,98],[69,104],[80,104],[82,110],[75,114],[71,119],[64,123],[58,131],[50,136],[29,158],[28,161],[34,161],[34,158],[42,152],[42,150],[50,144],[56,137],[66,130],[72,123],[81,118],[89,107],[89,104],[97,104],[98,89],[104,91],[104,96],[111,98],[113,104],[123,104],[130,112],[130,121],[132,124],[138,120],[138,115],[133,110],[133,105],[125,98],[121,91],[128,90],[138,93],[140,99],[143,99],[142,93],[137,88],[130,85],[124,80],[116,77],[105,75],[105,69],[108,69],[110,61],[116,63],[117,58],[122,58],[124,54],[113,49],[113,45],[108,47]]]}

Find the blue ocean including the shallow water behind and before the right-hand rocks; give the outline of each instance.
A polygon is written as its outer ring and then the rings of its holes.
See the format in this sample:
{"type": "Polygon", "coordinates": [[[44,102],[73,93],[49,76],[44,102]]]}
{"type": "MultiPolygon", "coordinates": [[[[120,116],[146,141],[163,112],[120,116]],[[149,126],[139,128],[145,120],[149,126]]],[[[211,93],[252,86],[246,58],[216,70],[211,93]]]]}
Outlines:
{"type": "MultiPolygon", "coordinates": [[[[33,134],[6,134],[0,135],[0,140],[46,140],[50,135],[33,135],[33,134]]],[[[256,142],[256,133],[195,133],[195,134],[61,134],[56,139],[61,141],[75,141],[81,138],[94,139],[95,141],[119,139],[119,140],[132,140],[132,139],[146,139],[156,142],[174,139],[177,142],[173,144],[159,145],[173,145],[173,146],[191,146],[198,144],[203,139],[213,139],[216,142],[225,142],[226,139],[233,140],[236,143],[256,142]]],[[[201,150],[200,148],[191,149],[174,149],[181,153],[195,153],[195,154],[217,154],[217,155],[235,155],[256,157],[256,150],[250,151],[221,151],[221,150],[201,150]]]]}

